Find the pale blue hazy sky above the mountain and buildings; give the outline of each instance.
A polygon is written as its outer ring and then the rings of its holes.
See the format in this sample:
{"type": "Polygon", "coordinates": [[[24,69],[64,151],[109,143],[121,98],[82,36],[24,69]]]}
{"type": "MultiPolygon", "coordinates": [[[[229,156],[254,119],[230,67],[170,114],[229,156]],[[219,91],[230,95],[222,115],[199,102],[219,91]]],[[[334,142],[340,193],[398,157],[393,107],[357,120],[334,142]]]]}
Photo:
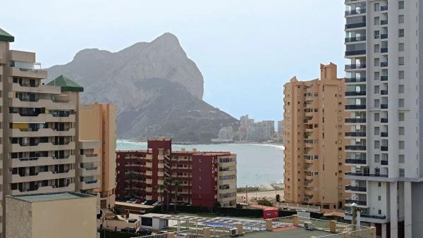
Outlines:
{"type": "Polygon", "coordinates": [[[0,27],[43,68],[85,48],[119,51],[175,34],[204,75],[204,101],[238,118],[280,120],[283,84],[343,73],[341,0],[7,1],[0,27]]]}

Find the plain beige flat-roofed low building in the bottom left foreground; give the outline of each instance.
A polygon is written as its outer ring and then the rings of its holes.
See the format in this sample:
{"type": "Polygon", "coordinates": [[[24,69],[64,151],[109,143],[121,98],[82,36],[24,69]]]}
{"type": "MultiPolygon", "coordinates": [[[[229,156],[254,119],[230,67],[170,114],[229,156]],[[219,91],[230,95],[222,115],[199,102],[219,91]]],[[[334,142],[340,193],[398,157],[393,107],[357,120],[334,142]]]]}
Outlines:
{"type": "Polygon", "coordinates": [[[95,238],[96,203],[78,192],[6,196],[6,237],[95,238]]]}

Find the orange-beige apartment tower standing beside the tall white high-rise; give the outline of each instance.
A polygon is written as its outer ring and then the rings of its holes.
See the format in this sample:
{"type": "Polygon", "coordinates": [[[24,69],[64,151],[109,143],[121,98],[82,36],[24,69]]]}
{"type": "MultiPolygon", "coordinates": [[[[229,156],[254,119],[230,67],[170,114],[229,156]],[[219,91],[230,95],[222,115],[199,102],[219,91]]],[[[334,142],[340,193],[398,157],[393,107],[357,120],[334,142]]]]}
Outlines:
{"type": "Polygon", "coordinates": [[[345,84],[335,64],[320,79],[284,85],[284,199],[338,209],[345,205],[345,84]]]}

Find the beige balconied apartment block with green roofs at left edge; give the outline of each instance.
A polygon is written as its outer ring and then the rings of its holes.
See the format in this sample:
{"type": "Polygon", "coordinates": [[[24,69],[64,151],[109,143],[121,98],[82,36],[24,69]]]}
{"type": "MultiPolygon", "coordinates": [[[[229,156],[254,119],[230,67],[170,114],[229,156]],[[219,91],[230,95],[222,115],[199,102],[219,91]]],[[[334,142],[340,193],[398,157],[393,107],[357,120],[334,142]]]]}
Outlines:
{"type": "Polygon", "coordinates": [[[14,37],[0,29],[1,233],[6,195],[92,193],[99,187],[96,141],[78,141],[80,85],[61,75],[44,84],[47,71],[35,53],[9,48],[14,37]]]}

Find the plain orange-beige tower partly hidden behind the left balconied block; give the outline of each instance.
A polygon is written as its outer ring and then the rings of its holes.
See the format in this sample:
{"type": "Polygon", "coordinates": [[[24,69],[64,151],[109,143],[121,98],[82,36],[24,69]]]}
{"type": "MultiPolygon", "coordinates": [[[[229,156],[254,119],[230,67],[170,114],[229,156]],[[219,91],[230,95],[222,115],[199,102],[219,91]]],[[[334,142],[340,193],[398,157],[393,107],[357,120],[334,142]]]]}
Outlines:
{"type": "Polygon", "coordinates": [[[112,104],[80,104],[79,138],[101,142],[96,154],[99,163],[100,194],[102,208],[114,207],[116,196],[116,106],[112,104]]]}

